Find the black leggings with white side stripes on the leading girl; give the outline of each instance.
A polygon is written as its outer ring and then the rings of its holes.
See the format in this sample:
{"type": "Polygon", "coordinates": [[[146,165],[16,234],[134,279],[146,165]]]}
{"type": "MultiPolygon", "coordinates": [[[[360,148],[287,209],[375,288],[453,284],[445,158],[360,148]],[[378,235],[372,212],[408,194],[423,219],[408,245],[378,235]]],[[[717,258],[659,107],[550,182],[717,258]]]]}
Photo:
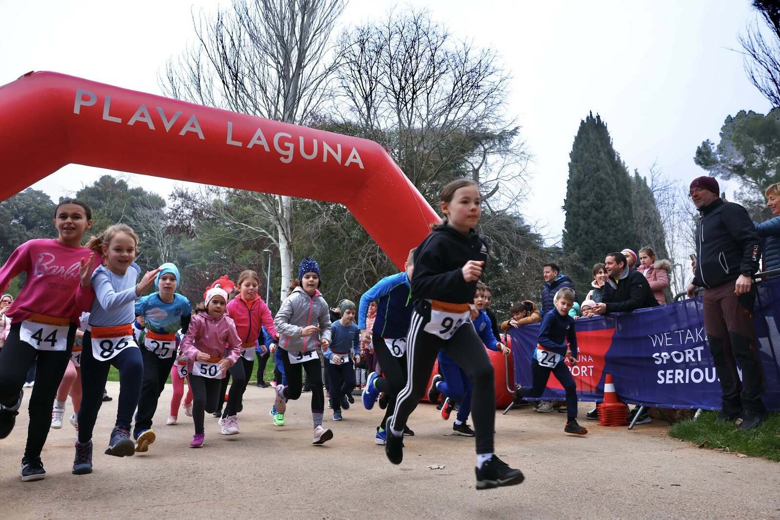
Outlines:
{"type": "Polygon", "coordinates": [[[484,344],[470,322],[464,323],[449,340],[425,332],[427,319],[412,313],[412,325],[406,338],[406,360],[409,380],[399,394],[395,411],[390,418],[390,429],[401,432],[406,420],[423,398],[428,380],[436,362],[439,349],[443,348],[469,376],[473,386],[471,397],[474,429],[477,430],[477,454],[494,452],[495,426],[495,375],[493,365],[484,344]]]}

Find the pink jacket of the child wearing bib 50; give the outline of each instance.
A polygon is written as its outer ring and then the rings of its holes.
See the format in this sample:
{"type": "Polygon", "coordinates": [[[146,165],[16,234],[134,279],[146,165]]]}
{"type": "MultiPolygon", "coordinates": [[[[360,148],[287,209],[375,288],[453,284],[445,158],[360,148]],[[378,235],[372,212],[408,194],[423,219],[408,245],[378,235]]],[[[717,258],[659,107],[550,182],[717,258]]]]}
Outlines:
{"type": "Polygon", "coordinates": [[[225,356],[235,363],[241,355],[241,338],[236,332],[236,324],[228,315],[222,315],[222,318],[215,320],[207,312],[198,312],[193,315],[190,329],[187,329],[180,347],[182,354],[188,359],[187,365],[191,371],[198,352],[208,354],[212,358],[225,356]]]}

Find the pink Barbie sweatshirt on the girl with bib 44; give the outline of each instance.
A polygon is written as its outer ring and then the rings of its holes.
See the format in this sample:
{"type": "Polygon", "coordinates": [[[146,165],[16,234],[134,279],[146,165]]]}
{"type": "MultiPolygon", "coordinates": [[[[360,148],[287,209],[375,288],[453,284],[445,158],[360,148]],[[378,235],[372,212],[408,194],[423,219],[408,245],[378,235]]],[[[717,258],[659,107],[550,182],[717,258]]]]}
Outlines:
{"type": "Polygon", "coordinates": [[[30,314],[42,314],[78,323],[95,296],[92,284],[81,287],[79,277],[79,262],[89,258],[90,252],[51,238],[29,240],[16,248],[0,268],[0,293],[22,272],[27,272],[27,282],[11,304],[9,318],[22,322],[30,314]]]}

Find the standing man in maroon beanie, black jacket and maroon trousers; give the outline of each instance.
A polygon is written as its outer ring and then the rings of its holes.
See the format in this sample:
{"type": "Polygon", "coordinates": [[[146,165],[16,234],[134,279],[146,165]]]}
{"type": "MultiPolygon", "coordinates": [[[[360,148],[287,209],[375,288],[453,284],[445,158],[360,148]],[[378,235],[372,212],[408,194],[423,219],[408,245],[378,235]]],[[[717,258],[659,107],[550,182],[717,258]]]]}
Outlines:
{"type": "Polygon", "coordinates": [[[745,208],[720,198],[714,178],[694,179],[690,198],[701,216],[696,226],[696,268],[687,292],[693,297],[696,287],[704,287],[704,329],[723,390],[718,422],[742,418],[742,429],[752,429],[767,416],[753,329],[753,275],[761,256],[758,233],[745,208]],[[736,363],[742,369],[742,383],[736,363]]]}

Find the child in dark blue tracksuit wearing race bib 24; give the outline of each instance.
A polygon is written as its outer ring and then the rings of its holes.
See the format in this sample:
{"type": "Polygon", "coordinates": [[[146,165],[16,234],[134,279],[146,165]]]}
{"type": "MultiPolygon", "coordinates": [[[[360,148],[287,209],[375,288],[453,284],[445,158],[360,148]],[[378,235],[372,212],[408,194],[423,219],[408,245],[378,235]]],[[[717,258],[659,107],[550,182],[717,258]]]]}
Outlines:
{"type": "Polygon", "coordinates": [[[577,388],[576,383],[569,372],[569,367],[563,362],[563,358],[571,351],[569,362],[576,365],[577,337],[574,333],[574,319],[569,315],[574,304],[574,291],[564,287],[555,293],[555,308],[544,315],[539,327],[539,339],[537,349],[534,351],[534,359],[531,362],[531,373],[534,383],[530,388],[516,386],[517,397],[540,397],[547,386],[550,374],[561,383],[566,390],[566,433],[584,435],[587,429],[577,424],[577,388]],[[569,347],[566,347],[566,341],[569,347]]]}

